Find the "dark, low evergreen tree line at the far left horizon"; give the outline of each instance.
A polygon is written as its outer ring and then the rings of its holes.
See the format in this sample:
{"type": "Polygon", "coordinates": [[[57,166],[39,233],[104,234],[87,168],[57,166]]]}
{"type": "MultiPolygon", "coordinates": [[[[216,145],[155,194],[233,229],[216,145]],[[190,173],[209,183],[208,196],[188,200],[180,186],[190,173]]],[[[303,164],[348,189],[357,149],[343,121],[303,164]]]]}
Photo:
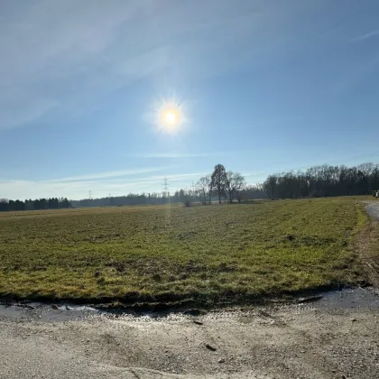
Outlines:
{"type": "Polygon", "coordinates": [[[60,209],[70,208],[71,204],[67,198],[29,199],[29,200],[7,200],[0,199],[0,212],[10,210],[37,210],[37,209],[60,209]]]}

